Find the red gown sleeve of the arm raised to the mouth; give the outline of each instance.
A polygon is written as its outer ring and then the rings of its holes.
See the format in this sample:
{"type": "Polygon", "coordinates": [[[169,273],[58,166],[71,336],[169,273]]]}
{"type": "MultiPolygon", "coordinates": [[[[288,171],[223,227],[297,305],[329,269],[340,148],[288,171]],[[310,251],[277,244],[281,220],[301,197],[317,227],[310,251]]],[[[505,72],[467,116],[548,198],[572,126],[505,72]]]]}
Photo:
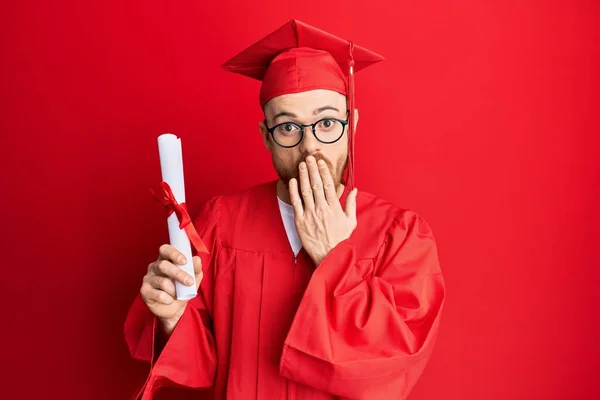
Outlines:
{"type": "Polygon", "coordinates": [[[357,259],[353,240],[314,271],[280,374],[343,398],[405,399],[431,355],[444,303],[435,240],[411,211],[399,212],[374,260],[357,259]]]}

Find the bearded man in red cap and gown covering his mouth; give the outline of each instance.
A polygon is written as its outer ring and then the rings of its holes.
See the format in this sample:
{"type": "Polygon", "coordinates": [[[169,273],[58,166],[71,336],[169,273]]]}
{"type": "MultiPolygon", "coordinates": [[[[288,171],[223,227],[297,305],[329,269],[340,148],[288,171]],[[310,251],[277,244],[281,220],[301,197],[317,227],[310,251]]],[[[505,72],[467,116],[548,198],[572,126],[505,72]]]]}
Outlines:
{"type": "Polygon", "coordinates": [[[404,399],[438,332],[444,282],[427,223],[353,188],[354,72],[381,56],[292,20],[228,61],[262,81],[280,179],[218,196],[194,220],[209,250],[163,245],[125,324],[163,386],[199,399],[404,399]],[[349,64],[348,64],[349,62],[349,64]]]}

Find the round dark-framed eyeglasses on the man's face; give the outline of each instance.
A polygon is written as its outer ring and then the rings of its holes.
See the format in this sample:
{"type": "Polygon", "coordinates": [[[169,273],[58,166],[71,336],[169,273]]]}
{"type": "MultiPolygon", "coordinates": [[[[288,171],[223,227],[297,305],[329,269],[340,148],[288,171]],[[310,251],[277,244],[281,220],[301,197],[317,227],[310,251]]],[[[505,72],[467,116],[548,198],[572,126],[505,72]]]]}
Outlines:
{"type": "MultiPolygon", "coordinates": [[[[266,121],[265,121],[266,125],[266,121]]],[[[298,146],[304,139],[304,129],[310,127],[315,138],[324,144],[332,144],[340,140],[348,125],[348,120],[327,117],[312,124],[298,124],[296,122],[282,122],[267,131],[275,143],[281,147],[291,148],[298,146]]]]}

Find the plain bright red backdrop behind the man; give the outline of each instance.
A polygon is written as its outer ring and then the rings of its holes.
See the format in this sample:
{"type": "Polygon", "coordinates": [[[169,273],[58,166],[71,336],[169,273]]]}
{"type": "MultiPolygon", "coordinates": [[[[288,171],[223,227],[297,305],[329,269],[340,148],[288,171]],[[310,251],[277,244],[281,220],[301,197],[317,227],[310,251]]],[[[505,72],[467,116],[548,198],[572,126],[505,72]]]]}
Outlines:
{"type": "Polygon", "coordinates": [[[383,54],[357,76],[357,186],[422,214],[448,301],[411,400],[600,397],[600,7],[588,1],[3,2],[0,397],[117,399],[188,203],[274,177],[258,83],[220,64],[291,18],[383,54]],[[302,3],[302,4],[300,4],[302,3]]]}

